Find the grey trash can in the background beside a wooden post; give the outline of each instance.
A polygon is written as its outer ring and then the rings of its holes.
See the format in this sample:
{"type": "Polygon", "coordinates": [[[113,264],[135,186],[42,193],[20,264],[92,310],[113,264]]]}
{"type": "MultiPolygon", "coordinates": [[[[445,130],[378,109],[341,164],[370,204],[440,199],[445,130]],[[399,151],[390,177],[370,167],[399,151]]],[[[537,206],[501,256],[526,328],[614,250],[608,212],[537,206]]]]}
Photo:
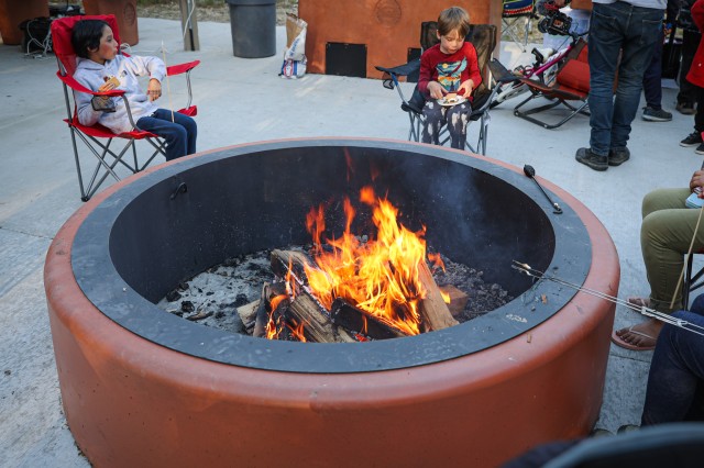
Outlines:
{"type": "Polygon", "coordinates": [[[232,52],[235,57],[276,54],[276,0],[226,0],[230,5],[232,52]]]}

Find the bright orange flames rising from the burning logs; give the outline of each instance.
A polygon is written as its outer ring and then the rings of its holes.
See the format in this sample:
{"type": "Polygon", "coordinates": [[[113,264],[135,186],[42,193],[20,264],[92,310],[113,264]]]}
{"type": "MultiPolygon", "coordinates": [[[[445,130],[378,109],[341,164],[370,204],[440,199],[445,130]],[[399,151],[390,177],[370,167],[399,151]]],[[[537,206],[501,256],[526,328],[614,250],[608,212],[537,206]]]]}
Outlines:
{"type": "MultiPolygon", "coordinates": [[[[328,310],[337,298],[362,309],[408,335],[420,333],[419,303],[426,290],[419,265],[426,258],[425,227],[417,233],[397,221],[398,210],[376,197],[372,188],[360,191],[360,201],[372,209],[376,238],[364,243],[351,233],[356,214],[344,200],[345,230],[340,238],[323,239],[324,210],[312,209],[306,219],[315,242],[315,266],[306,265],[312,296],[328,310]],[[323,243],[331,248],[322,248],[323,243]]],[[[438,265],[439,255],[433,257],[438,265]]]]}

